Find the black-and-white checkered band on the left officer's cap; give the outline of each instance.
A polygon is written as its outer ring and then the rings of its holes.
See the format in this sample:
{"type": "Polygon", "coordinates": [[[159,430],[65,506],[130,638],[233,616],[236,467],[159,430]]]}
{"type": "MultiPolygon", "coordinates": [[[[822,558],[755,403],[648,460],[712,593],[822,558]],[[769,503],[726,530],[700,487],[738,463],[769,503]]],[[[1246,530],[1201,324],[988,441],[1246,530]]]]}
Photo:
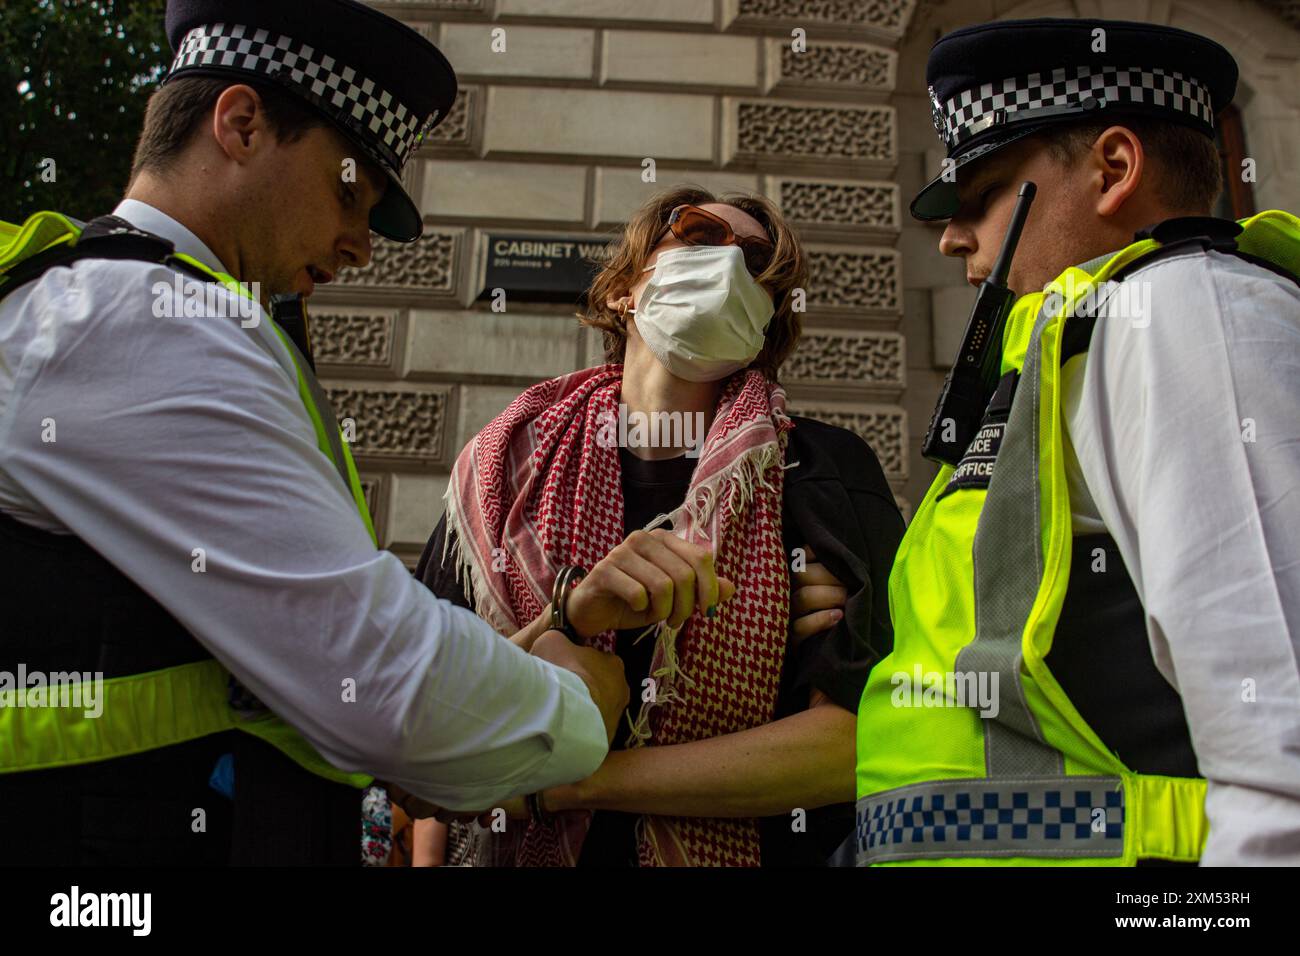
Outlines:
{"type": "Polygon", "coordinates": [[[196,26],[185,35],[172,73],[195,66],[228,66],[263,73],[315,103],[367,143],[374,159],[393,173],[438,118],[419,117],[381,88],[334,57],[242,23],[196,26]]]}

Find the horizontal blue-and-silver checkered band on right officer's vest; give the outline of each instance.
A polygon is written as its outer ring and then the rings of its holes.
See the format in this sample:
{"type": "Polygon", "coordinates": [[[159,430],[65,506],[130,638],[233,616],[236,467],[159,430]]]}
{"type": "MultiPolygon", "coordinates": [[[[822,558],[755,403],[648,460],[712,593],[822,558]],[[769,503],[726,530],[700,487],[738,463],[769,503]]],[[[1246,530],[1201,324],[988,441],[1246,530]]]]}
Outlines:
{"type": "Polygon", "coordinates": [[[1119,857],[1118,777],[932,780],[857,806],[858,866],[948,857],[1119,857]]]}

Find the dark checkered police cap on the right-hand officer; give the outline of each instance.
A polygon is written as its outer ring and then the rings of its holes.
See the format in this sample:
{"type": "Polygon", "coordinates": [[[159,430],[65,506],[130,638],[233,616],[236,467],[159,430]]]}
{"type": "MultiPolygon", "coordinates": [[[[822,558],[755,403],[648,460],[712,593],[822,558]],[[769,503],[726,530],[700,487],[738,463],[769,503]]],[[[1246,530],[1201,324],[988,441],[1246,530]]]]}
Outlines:
{"type": "MultiPolygon", "coordinates": [[[[1006,20],[956,30],[926,68],[931,120],[958,170],[1030,133],[1065,122],[1148,116],[1214,135],[1236,61],[1186,30],[1109,20],[1006,20]]],[[[957,212],[952,176],[911,202],[922,220],[957,212]]]]}

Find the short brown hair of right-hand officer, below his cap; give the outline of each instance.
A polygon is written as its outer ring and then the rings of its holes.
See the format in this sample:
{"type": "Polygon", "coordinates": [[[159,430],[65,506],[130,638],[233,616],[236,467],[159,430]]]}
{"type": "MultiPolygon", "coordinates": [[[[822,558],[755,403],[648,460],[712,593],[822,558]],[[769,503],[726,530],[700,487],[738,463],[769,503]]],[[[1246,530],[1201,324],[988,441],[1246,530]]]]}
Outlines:
{"type": "Polygon", "coordinates": [[[1209,215],[1223,189],[1223,161],[1214,140],[1204,133],[1176,122],[1126,116],[1115,122],[1048,127],[1040,135],[1053,159],[1071,164],[1112,126],[1132,130],[1141,140],[1147,157],[1157,166],[1156,195],[1165,206],[1209,215]]]}

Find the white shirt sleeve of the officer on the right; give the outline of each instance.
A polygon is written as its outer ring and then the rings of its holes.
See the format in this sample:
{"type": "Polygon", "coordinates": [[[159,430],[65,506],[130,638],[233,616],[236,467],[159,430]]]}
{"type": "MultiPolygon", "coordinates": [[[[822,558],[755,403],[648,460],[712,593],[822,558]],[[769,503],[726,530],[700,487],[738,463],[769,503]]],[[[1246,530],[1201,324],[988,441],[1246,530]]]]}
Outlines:
{"type": "Polygon", "coordinates": [[[1128,282],[1149,324],[1097,321],[1065,380],[1070,438],[1183,700],[1202,864],[1296,865],[1300,289],[1218,252],[1128,282]]]}

